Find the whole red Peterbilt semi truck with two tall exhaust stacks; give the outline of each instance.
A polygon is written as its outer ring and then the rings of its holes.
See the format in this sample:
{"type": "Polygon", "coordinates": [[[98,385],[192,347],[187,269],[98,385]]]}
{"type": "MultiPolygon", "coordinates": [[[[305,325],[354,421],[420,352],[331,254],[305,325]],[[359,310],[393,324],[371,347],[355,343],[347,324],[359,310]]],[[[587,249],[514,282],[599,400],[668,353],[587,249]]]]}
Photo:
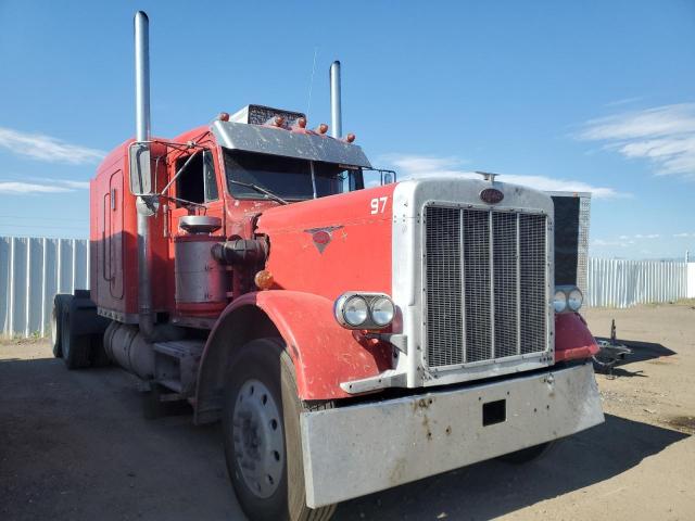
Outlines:
{"type": "Polygon", "coordinates": [[[152,137],[148,23],[136,14],[136,138],[90,186],[90,290],[55,297],[70,369],[117,364],[195,423],[222,420],[251,519],[328,519],[603,421],[548,195],[494,175],[379,170],[365,188],[337,62],[331,136],[249,105],[152,137]]]}

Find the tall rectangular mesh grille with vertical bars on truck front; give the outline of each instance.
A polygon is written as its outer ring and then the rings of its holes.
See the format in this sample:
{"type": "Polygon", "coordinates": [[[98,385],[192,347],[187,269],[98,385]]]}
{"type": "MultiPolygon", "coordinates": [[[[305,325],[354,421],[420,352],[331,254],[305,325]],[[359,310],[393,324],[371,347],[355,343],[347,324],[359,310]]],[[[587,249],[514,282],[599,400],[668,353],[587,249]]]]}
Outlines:
{"type": "Polygon", "coordinates": [[[430,205],[425,212],[427,364],[546,350],[546,217],[430,205]]]}

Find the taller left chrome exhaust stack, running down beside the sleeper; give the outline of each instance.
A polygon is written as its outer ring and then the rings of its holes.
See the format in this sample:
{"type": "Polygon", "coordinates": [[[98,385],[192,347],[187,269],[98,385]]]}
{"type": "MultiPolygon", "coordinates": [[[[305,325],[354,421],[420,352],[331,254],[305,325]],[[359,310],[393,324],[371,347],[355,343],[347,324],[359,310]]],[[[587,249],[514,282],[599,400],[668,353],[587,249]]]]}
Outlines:
{"type": "MultiPolygon", "coordinates": [[[[143,11],[135,14],[135,119],[136,141],[150,141],[150,21],[143,11]]],[[[149,143],[143,144],[147,149],[149,143]]],[[[142,176],[150,180],[152,171],[149,162],[143,162],[142,176]]],[[[156,187],[152,189],[156,191],[156,187]]],[[[150,240],[150,217],[155,209],[147,195],[139,195],[138,208],[138,323],[147,340],[154,333],[154,312],[152,309],[152,244],[150,240]]]]}

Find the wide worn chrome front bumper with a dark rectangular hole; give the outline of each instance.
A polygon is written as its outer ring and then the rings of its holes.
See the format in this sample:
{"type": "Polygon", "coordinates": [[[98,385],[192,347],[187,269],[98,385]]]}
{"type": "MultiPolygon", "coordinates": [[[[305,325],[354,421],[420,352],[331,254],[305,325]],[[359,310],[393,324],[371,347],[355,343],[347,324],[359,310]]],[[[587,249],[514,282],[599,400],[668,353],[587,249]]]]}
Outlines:
{"type": "Polygon", "coordinates": [[[603,421],[591,364],[303,412],[306,504],[344,501],[603,421]]]}

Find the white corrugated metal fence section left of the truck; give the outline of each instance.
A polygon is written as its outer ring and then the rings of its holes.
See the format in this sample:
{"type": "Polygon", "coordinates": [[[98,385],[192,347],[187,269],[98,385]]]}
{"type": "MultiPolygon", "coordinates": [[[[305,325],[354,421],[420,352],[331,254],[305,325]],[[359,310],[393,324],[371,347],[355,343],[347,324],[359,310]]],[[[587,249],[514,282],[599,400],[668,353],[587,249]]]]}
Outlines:
{"type": "Polygon", "coordinates": [[[86,240],[0,237],[2,334],[49,334],[53,295],[89,288],[88,252],[86,240]]]}

